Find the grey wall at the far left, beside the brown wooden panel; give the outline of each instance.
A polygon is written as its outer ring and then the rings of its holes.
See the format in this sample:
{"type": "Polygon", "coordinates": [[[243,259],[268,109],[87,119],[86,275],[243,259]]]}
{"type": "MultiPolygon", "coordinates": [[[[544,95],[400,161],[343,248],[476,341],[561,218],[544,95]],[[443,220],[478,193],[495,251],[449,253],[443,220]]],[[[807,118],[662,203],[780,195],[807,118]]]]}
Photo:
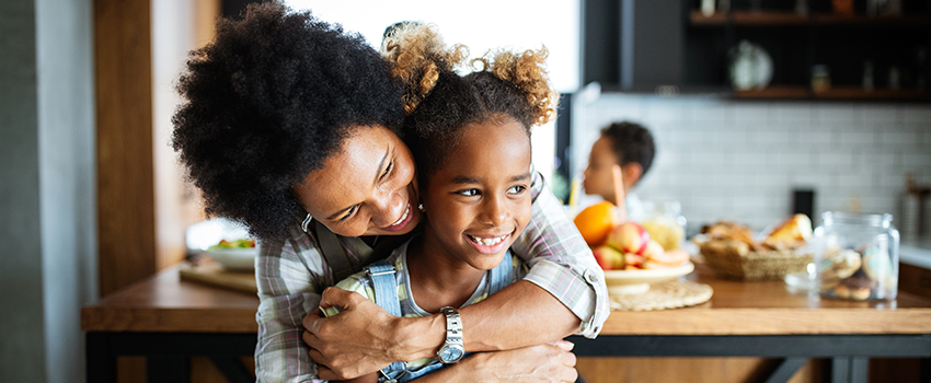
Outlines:
{"type": "Polygon", "coordinates": [[[90,0],[0,1],[0,382],[84,375],[96,297],[90,0]]]}

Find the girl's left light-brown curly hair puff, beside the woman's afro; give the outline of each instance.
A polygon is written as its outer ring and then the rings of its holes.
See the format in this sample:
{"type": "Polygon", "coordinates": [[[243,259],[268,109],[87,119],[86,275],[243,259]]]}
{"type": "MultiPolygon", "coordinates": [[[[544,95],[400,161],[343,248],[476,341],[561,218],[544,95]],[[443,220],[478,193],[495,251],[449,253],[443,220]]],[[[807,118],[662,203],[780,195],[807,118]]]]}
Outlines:
{"type": "Polygon", "coordinates": [[[435,25],[401,22],[392,25],[381,44],[381,56],[391,74],[404,83],[403,107],[410,115],[436,86],[440,72],[453,72],[469,56],[469,48],[446,47],[435,25]]]}

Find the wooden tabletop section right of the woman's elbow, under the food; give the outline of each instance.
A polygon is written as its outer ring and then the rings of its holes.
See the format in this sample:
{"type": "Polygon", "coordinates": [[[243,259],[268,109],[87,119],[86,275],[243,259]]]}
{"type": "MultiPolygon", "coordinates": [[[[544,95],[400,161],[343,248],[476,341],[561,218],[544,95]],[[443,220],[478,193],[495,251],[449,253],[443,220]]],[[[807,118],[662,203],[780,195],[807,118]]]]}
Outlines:
{"type": "Polygon", "coordinates": [[[613,311],[606,335],[931,334],[931,301],[841,301],[792,292],[783,281],[723,280],[704,265],[687,279],[710,285],[708,303],[650,312],[613,311]]]}

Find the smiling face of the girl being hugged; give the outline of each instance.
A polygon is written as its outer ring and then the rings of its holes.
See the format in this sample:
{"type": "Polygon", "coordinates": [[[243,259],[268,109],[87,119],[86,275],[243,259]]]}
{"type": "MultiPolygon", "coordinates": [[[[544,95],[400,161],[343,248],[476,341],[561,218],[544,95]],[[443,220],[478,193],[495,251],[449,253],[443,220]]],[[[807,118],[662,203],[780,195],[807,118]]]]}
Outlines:
{"type": "Polygon", "coordinates": [[[530,220],[530,138],[510,118],[463,129],[422,190],[424,245],[489,270],[530,220]]]}

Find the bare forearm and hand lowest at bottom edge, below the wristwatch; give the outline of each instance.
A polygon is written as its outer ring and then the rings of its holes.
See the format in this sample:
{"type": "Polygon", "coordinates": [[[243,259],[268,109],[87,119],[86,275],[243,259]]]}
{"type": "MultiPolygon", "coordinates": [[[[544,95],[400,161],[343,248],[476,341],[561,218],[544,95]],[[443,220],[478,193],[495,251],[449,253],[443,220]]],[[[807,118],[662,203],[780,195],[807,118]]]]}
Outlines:
{"type": "Polygon", "coordinates": [[[575,382],[573,344],[553,344],[507,351],[476,352],[417,382],[575,382]]]}

